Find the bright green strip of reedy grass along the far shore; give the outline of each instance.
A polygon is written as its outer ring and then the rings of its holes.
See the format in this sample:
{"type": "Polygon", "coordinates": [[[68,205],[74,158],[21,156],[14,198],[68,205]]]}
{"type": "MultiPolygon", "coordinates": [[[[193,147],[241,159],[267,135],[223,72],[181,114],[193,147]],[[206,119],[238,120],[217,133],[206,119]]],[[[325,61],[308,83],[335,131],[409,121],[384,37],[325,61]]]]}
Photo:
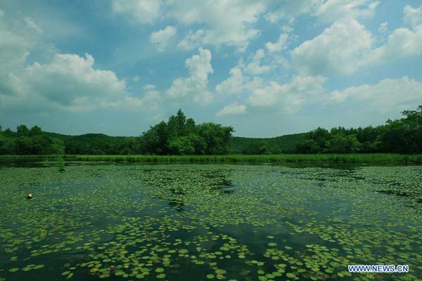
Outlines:
{"type": "MultiPolygon", "coordinates": [[[[1,155],[1,158],[49,159],[57,155],[1,155]]],[[[281,154],[281,155],[63,155],[66,161],[129,162],[129,163],[368,163],[368,164],[422,164],[422,155],[373,154],[281,154]]]]}

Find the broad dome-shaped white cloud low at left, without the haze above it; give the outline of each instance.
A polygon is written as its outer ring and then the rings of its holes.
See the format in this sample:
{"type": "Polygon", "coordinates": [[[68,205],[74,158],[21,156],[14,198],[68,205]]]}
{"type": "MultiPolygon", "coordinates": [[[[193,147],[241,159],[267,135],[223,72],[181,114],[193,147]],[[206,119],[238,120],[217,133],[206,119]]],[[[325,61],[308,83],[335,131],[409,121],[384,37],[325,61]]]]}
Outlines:
{"type": "Polygon", "coordinates": [[[157,110],[161,100],[155,86],[144,88],[138,98],[127,91],[115,72],[94,68],[94,58],[85,54],[56,54],[51,62],[34,63],[20,73],[20,89],[11,96],[0,94],[5,107],[25,104],[65,111],[91,111],[101,108],[157,110]]]}

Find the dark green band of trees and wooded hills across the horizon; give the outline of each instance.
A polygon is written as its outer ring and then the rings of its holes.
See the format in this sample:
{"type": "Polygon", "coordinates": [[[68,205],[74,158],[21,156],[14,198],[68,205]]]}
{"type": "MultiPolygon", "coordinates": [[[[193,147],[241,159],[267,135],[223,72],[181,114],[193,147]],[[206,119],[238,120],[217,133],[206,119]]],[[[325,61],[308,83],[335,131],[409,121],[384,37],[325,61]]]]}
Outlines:
{"type": "Polygon", "coordinates": [[[179,110],[167,122],[139,137],[88,133],[68,136],[21,124],[16,131],[0,126],[0,155],[276,155],[280,153],[422,153],[422,105],[402,118],[364,128],[317,128],[276,138],[233,136],[234,128],[196,124],[179,110]]]}

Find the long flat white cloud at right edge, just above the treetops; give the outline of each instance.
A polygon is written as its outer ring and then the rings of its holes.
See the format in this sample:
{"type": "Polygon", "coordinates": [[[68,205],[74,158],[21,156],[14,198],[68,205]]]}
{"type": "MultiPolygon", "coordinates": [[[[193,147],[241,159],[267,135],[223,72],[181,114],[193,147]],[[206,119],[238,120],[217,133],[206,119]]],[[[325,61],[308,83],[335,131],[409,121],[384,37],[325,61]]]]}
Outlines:
{"type": "Polygon", "coordinates": [[[378,112],[397,112],[421,103],[422,83],[409,77],[383,79],[378,84],[365,84],[333,91],[329,103],[359,103],[378,112]]]}

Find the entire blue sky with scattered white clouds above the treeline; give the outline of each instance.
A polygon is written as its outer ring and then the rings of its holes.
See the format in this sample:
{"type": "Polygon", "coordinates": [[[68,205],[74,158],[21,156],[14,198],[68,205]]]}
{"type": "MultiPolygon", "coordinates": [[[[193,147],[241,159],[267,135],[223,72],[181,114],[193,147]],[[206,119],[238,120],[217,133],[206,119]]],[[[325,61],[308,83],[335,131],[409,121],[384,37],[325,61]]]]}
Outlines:
{"type": "Polygon", "coordinates": [[[235,136],[422,104],[422,1],[0,0],[0,124],[139,136],[179,108],[235,136]]]}

